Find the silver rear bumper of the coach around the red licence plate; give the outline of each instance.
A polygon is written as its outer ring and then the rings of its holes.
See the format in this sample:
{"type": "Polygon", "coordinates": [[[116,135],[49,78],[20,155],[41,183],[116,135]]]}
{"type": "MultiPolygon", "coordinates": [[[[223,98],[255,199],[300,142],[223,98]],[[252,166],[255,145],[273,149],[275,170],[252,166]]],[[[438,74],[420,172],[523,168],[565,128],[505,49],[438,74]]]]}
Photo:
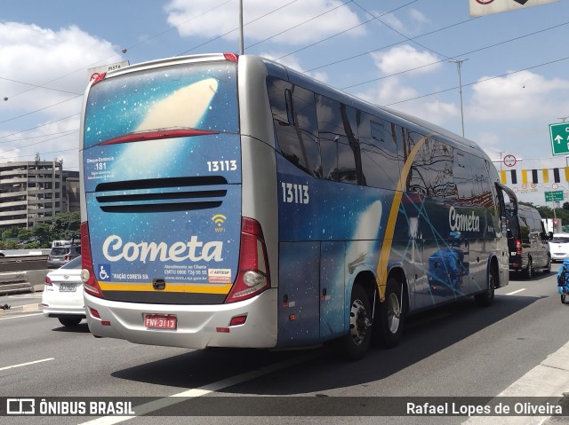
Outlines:
{"type": "Polygon", "coordinates": [[[95,336],[188,349],[276,346],[276,288],[250,300],[216,305],[124,303],[87,293],[84,297],[87,323],[95,336]],[[148,328],[146,314],[175,315],[177,326],[148,328]],[[239,316],[246,316],[244,324],[229,326],[239,316]]]}

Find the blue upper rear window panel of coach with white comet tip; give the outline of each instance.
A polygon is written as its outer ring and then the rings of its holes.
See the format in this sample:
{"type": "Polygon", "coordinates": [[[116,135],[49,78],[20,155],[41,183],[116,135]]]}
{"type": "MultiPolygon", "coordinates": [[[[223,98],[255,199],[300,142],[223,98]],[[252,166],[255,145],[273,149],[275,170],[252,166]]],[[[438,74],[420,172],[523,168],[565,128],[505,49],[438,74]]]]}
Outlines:
{"type": "Polygon", "coordinates": [[[110,77],[87,98],[84,147],[156,130],[239,131],[236,64],[199,62],[110,77]]]}

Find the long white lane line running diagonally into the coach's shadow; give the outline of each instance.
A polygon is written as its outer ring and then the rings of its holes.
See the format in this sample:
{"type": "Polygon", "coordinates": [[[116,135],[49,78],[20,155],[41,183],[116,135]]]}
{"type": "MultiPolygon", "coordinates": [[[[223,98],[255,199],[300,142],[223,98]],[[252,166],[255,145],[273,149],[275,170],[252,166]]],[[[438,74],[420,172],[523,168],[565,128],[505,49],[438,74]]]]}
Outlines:
{"type": "Polygon", "coordinates": [[[261,367],[260,369],[254,370],[252,372],[246,372],[244,374],[231,376],[230,378],[226,378],[218,382],[208,383],[199,388],[182,391],[178,394],[173,394],[172,396],[158,398],[157,400],[150,401],[144,405],[133,406],[134,410],[136,411],[136,415],[102,416],[100,418],[93,419],[92,421],[80,423],[79,425],[115,425],[116,423],[128,421],[140,415],[156,412],[156,410],[164,409],[164,407],[170,407],[172,405],[177,405],[178,403],[188,401],[188,398],[202,397],[212,392],[223,390],[239,383],[251,381],[252,379],[259,378],[260,376],[264,376],[266,374],[271,374],[286,367],[299,365],[319,356],[322,356],[321,352],[310,353],[305,356],[301,356],[300,358],[293,358],[291,360],[277,363],[276,365],[261,367]]]}

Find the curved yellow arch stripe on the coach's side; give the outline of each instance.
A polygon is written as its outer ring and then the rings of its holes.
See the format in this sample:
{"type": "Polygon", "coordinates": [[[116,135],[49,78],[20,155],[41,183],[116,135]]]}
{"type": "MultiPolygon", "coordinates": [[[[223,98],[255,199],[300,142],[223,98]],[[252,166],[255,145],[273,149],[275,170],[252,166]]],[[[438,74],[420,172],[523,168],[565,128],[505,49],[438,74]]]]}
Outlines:
{"type": "Polygon", "coordinates": [[[383,235],[383,243],[381,244],[381,251],[380,251],[380,260],[377,264],[377,271],[376,271],[376,284],[380,291],[380,300],[383,301],[385,299],[385,287],[388,281],[388,263],[389,263],[389,253],[391,252],[391,245],[393,244],[393,233],[395,233],[395,224],[397,222],[397,214],[399,212],[399,206],[401,205],[401,199],[403,197],[403,192],[405,191],[405,185],[407,183],[407,177],[409,176],[409,172],[411,171],[411,165],[413,164],[413,160],[421,146],[425,143],[425,140],[432,136],[429,134],[428,136],[422,136],[413,149],[409,153],[407,157],[407,161],[405,161],[405,165],[401,170],[401,175],[399,176],[399,181],[397,182],[397,189],[393,196],[393,201],[391,202],[391,209],[389,209],[389,216],[388,216],[388,224],[385,228],[385,234],[383,235]]]}

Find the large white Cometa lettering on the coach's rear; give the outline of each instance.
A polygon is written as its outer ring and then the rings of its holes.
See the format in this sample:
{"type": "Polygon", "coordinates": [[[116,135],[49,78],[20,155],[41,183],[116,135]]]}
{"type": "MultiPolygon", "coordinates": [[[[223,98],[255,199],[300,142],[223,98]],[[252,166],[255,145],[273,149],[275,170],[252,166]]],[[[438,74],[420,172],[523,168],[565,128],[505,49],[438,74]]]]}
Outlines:
{"type": "Polygon", "coordinates": [[[120,236],[112,234],[103,242],[103,256],[108,261],[223,261],[223,242],[213,240],[202,242],[197,236],[190,237],[188,242],[126,242],[120,236]]]}

